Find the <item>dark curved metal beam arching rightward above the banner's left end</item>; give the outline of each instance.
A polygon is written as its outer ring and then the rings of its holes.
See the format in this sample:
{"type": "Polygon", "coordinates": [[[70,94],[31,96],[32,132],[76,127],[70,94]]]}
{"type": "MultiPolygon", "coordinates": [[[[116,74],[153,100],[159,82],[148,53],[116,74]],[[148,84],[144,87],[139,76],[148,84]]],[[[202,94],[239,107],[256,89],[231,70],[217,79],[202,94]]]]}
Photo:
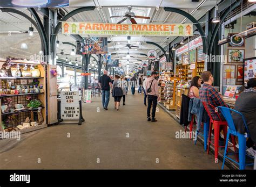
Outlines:
{"type": "MultiPolygon", "coordinates": [[[[77,13],[80,13],[80,12],[85,12],[85,11],[90,11],[90,10],[94,10],[95,9],[95,6],[85,6],[85,7],[82,7],[82,8],[78,8],[76,10],[73,10],[71,12],[69,12],[66,16],[64,16],[62,18],[62,20],[60,21],[66,21],[68,20],[70,17],[72,16],[75,16],[77,13]]],[[[56,25],[54,31],[53,31],[53,34],[51,35],[51,52],[53,51],[53,46],[54,46],[54,42],[56,41],[56,37],[57,37],[57,34],[60,30],[60,28],[62,27],[62,22],[60,22],[56,25]]]]}

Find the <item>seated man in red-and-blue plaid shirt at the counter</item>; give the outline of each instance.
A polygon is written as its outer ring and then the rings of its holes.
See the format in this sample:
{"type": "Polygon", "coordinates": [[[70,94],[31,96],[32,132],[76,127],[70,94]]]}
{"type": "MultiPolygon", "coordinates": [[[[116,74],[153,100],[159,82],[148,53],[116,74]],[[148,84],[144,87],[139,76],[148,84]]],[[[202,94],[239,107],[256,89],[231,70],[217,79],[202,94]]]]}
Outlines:
{"type": "MultiPolygon", "coordinates": [[[[204,81],[203,87],[199,90],[199,98],[202,102],[210,103],[214,107],[217,106],[226,106],[228,107],[224,100],[220,97],[219,93],[215,88],[212,86],[213,83],[213,76],[210,71],[204,71],[201,74],[201,78],[204,81]]],[[[214,109],[210,108],[210,113],[213,118],[213,120],[219,120],[218,115],[215,113],[214,109]]],[[[225,120],[225,118],[222,116],[222,114],[219,112],[220,117],[222,120],[225,120]]]]}

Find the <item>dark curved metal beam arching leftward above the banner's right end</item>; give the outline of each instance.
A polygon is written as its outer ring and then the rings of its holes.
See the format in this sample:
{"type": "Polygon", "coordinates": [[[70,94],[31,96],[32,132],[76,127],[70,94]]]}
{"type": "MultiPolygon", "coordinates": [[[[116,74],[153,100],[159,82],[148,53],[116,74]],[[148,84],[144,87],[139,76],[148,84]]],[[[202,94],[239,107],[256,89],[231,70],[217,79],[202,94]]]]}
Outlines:
{"type": "MultiPolygon", "coordinates": [[[[192,23],[197,27],[200,35],[202,36],[202,40],[203,40],[203,52],[206,54],[206,48],[207,48],[207,42],[205,39],[205,32],[202,28],[202,26],[198,23],[198,21],[196,20],[196,18],[194,18],[193,16],[191,16],[189,13],[180,10],[180,9],[176,9],[176,8],[171,8],[171,7],[165,7],[164,8],[165,11],[167,12],[175,12],[175,13],[179,13],[182,16],[185,16],[187,19],[189,19],[190,21],[192,21],[192,23]]],[[[167,57],[166,57],[167,59],[167,57]]]]}

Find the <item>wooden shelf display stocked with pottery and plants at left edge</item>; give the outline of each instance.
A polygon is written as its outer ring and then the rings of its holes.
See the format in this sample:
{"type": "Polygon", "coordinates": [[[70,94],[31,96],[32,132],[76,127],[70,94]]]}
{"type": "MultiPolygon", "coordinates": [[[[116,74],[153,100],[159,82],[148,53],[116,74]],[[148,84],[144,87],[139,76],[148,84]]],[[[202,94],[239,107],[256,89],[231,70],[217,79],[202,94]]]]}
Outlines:
{"type": "MultiPolygon", "coordinates": [[[[11,58],[10,58],[11,59],[11,58]]],[[[7,77],[0,77],[1,117],[3,131],[29,132],[46,127],[45,67],[22,60],[5,62],[7,77]],[[10,68],[9,67],[10,64],[10,68]],[[30,124],[33,122],[33,125],[30,124]]]]}

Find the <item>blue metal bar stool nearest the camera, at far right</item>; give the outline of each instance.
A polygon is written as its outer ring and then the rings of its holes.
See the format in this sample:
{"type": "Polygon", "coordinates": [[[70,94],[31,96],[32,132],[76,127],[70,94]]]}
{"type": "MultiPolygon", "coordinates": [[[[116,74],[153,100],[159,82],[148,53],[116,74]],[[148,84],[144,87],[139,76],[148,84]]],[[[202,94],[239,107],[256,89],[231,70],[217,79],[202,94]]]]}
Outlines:
{"type": "Polygon", "coordinates": [[[233,109],[230,109],[230,108],[227,108],[227,107],[224,107],[224,106],[218,106],[218,109],[220,109],[221,113],[225,117],[225,119],[227,121],[227,124],[228,124],[225,153],[224,153],[223,165],[222,165],[221,169],[224,169],[225,159],[229,159],[229,160],[233,161],[234,163],[238,164],[239,165],[239,169],[245,169],[245,166],[252,166],[254,163],[248,163],[248,164],[245,163],[245,156],[249,156],[252,159],[253,159],[253,157],[246,154],[246,138],[250,137],[250,133],[248,131],[248,127],[247,127],[244,115],[242,113],[236,111],[236,110],[233,110],[233,109]],[[244,121],[244,126],[246,128],[246,133],[247,133],[246,136],[245,136],[245,134],[240,134],[235,129],[234,121],[233,121],[233,118],[231,116],[231,111],[236,112],[236,113],[238,113],[241,116],[242,120],[244,121]],[[237,154],[237,153],[228,153],[227,154],[228,138],[229,138],[230,135],[238,137],[239,162],[234,161],[233,159],[231,159],[230,157],[227,156],[227,155],[230,155],[230,154],[237,154]]]}

